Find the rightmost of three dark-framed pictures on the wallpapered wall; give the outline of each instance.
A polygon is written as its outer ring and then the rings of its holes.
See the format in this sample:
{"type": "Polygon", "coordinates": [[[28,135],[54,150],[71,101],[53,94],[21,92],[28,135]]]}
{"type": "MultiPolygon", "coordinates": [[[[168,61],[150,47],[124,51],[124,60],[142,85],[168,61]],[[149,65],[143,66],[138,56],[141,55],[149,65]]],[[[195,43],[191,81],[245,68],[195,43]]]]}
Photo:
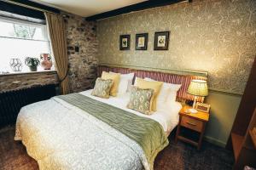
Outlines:
{"type": "Polygon", "coordinates": [[[154,50],[168,50],[170,31],[154,32],[154,50]]]}

